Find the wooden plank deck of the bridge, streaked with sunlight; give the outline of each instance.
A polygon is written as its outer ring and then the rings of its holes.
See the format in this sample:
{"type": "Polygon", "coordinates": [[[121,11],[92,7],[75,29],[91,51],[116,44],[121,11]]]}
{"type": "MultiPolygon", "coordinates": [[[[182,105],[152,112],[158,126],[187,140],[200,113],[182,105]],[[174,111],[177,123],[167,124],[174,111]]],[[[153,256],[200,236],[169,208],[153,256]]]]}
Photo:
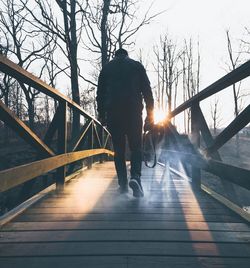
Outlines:
{"type": "Polygon", "coordinates": [[[158,166],[145,197],[117,193],[112,162],[94,165],[6,224],[0,267],[247,267],[250,227],[158,166]]]}

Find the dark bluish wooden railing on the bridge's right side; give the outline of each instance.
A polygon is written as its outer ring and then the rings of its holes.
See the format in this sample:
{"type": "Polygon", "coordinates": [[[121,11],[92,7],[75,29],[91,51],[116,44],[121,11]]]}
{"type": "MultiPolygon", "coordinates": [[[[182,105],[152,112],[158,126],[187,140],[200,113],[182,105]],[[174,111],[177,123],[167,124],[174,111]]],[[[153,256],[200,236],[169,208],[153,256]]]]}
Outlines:
{"type": "MultiPolygon", "coordinates": [[[[228,73],[215,83],[211,84],[197,95],[181,104],[169,115],[169,119],[174,118],[187,109],[191,111],[191,140],[195,150],[190,152],[182,146],[182,140],[176,129],[169,123],[169,130],[173,134],[175,142],[179,144],[175,147],[172,155],[178,155],[183,163],[189,163],[192,167],[190,177],[193,184],[201,187],[201,170],[212,173],[223,181],[231,182],[250,190],[250,170],[229,165],[222,161],[219,149],[225,145],[240,130],[250,122],[250,104],[234,118],[228,126],[216,137],[213,137],[204,114],[200,108],[200,102],[213,96],[214,94],[228,88],[229,86],[250,76],[250,61],[228,73]],[[201,146],[201,138],[203,140],[201,146]],[[178,148],[178,149],[176,149],[178,148]],[[187,152],[188,151],[188,152],[187,152]]],[[[248,217],[249,219],[250,217],[248,217]]]]}

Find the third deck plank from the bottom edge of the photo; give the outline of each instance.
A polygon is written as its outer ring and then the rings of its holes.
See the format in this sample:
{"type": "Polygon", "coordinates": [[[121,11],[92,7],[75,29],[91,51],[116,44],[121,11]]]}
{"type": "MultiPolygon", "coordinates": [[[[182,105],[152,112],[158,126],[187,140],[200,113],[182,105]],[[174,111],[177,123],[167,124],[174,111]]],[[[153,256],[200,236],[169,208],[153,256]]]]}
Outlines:
{"type": "Polygon", "coordinates": [[[250,242],[250,233],[191,230],[48,230],[2,232],[1,243],[24,242],[250,242]]]}

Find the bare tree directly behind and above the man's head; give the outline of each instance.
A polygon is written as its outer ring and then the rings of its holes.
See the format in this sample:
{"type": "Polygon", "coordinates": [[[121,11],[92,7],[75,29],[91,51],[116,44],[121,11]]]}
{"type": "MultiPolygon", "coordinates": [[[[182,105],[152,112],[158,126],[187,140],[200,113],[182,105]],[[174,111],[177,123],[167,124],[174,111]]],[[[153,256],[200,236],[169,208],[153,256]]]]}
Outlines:
{"type": "Polygon", "coordinates": [[[150,8],[138,21],[136,0],[89,0],[83,10],[88,40],[84,47],[97,54],[101,68],[110,61],[117,48],[134,44],[136,33],[161,13],[150,15],[150,8]]]}

